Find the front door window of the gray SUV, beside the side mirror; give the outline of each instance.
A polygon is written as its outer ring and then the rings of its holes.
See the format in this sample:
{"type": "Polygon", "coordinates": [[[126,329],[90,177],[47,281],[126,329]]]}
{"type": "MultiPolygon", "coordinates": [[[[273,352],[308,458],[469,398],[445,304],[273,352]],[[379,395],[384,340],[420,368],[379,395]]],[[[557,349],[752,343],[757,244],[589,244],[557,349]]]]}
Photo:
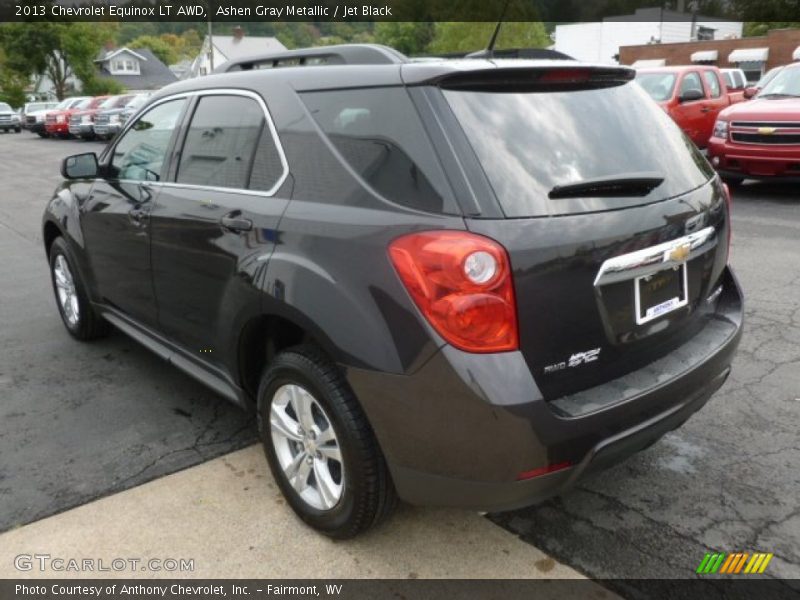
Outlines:
{"type": "Polygon", "coordinates": [[[119,179],[158,181],[170,138],[186,100],[172,100],[151,108],[131,126],[114,147],[112,172],[119,179]]]}

